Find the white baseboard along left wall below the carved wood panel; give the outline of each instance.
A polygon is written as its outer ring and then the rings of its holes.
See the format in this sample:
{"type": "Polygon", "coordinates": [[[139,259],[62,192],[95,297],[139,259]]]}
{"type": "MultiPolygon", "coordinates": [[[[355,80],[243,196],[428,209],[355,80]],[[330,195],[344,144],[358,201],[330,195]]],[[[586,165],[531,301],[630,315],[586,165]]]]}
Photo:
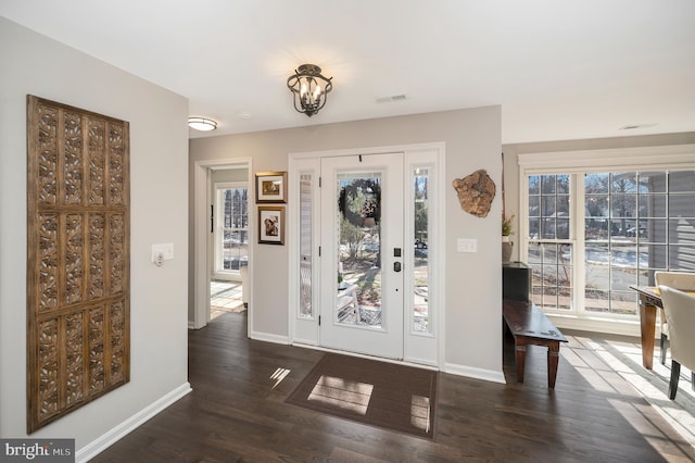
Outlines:
{"type": "Polygon", "coordinates": [[[113,429],[109,430],[101,437],[96,440],[89,442],[81,449],[79,449],[75,453],[75,462],[88,462],[89,460],[97,456],[99,453],[106,450],[109,447],[116,443],[119,439],[126,436],[128,433],[132,431],[138,426],[142,425],[144,422],[150,420],[152,416],[160,413],[162,410],[166,409],[187,393],[191,392],[190,383],[184,383],[181,386],[177,387],[166,396],[157,399],[147,408],[142,409],[135,415],[130,416],[125,422],[121,423],[113,429]]]}

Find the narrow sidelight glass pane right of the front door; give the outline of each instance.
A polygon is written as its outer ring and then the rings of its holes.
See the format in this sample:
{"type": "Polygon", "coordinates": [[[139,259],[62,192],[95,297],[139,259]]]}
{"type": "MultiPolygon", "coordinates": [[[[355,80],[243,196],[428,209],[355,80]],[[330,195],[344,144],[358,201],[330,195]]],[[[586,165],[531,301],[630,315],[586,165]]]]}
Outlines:
{"type": "Polygon", "coordinates": [[[415,262],[413,272],[413,330],[431,333],[429,311],[429,170],[416,168],[413,172],[414,189],[414,230],[415,262]]]}

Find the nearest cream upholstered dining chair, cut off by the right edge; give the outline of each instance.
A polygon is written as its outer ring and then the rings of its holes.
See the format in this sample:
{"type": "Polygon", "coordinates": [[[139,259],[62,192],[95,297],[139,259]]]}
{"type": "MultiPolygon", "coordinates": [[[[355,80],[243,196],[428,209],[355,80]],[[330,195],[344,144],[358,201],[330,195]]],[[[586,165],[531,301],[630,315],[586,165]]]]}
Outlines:
{"type": "Polygon", "coordinates": [[[669,323],[669,341],[671,343],[671,379],[669,381],[669,399],[675,399],[681,365],[691,370],[692,387],[695,390],[695,296],[671,288],[659,286],[666,320],[669,323]]]}

